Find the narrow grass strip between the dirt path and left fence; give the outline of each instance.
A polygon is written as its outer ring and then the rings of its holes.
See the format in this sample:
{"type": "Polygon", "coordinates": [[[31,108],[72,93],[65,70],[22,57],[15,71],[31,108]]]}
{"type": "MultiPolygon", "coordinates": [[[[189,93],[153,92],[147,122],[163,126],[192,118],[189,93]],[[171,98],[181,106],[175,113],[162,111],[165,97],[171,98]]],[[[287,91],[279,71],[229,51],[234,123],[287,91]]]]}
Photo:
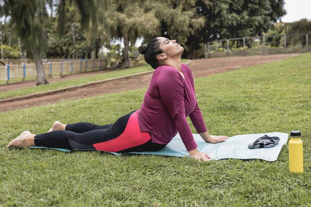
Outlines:
{"type": "MultiPolygon", "coordinates": [[[[181,60],[182,63],[187,63],[188,61],[189,59],[181,60]]],[[[77,85],[81,85],[85,83],[91,83],[95,81],[105,80],[109,78],[116,78],[116,77],[121,77],[121,76],[126,76],[126,75],[133,75],[136,73],[142,73],[142,72],[153,71],[153,70],[154,69],[150,65],[145,63],[142,66],[127,68],[127,69],[122,69],[122,70],[115,70],[111,72],[103,71],[102,74],[90,75],[84,78],[77,78],[74,80],[60,81],[60,82],[50,83],[50,84],[46,84],[42,86],[33,86],[33,87],[28,87],[28,88],[23,88],[23,89],[11,90],[7,92],[0,92],[0,100],[29,95],[29,94],[35,94],[39,92],[52,91],[55,89],[61,89],[61,88],[66,88],[70,86],[77,86],[77,85]]]]}

